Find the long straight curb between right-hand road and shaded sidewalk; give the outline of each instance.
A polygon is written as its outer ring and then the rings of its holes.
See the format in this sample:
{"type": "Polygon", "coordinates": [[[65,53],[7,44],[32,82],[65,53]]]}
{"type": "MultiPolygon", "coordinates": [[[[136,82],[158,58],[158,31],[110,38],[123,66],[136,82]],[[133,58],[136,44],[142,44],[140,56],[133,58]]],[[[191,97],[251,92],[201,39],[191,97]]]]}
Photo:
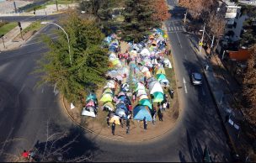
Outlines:
{"type": "MultiPolygon", "coordinates": [[[[199,58],[199,56],[198,56],[198,50],[197,49],[195,49],[195,47],[193,46],[193,45],[191,45],[191,40],[189,40],[189,44],[190,44],[190,46],[193,48],[193,50],[195,50],[195,55],[196,55],[196,58],[197,58],[197,60],[200,60],[200,58],[199,58]]],[[[204,76],[205,76],[205,79],[206,79],[206,83],[207,83],[207,86],[208,87],[210,87],[210,92],[211,92],[211,97],[214,99],[213,101],[214,101],[214,103],[215,103],[215,105],[216,105],[216,111],[217,111],[217,113],[218,113],[218,115],[219,115],[219,118],[221,118],[220,120],[221,120],[221,126],[222,126],[222,128],[224,129],[224,131],[225,131],[225,134],[227,134],[227,137],[228,137],[228,140],[229,140],[229,146],[231,147],[231,150],[232,150],[232,153],[235,153],[235,154],[237,154],[237,149],[236,149],[236,147],[235,147],[235,145],[234,145],[234,143],[233,143],[233,141],[232,141],[232,138],[231,138],[231,135],[228,133],[228,131],[227,131],[227,127],[226,127],[226,125],[225,125],[225,122],[223,121],[223,119],[222,119],[222,116],[221,116],[221,112],[220,112],[220,107],[219,107],[219,105],[218,105],[218,103],[216,102],[216,97],[214,96],[214,93],[213,93],[213,90],[212,90],[212,87],[210,86],[210,83],[209,83],[209,81],[208,81],[208,78],[207,78],[207,76],[206,76],[206,74],[205,74],[205,69],[204,69],[204,66],[202,65],[202,63],[201,63],[201,60],[200,60],[200,66],[201,66],[201,69],[204,71],[204,76]]],[[[233,155],[231,155],[231,156],[233,156],[233,155]]]]}

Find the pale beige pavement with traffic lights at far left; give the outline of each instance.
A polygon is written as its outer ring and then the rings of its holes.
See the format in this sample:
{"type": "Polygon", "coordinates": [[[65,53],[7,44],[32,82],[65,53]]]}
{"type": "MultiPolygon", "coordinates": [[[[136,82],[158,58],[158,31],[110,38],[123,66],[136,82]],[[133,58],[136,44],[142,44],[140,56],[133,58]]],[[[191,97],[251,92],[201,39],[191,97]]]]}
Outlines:
{"type": "MultiPolygon", "coordinates": [[[[31,22],[21,22],[22,29],[27,28],[31,22]]],[[[26,40],[29,39],[26,35],[23,35],[23,39],[20,37],[20,30],[17,24],[17,27],[10,30],[7,34],[3,36],[3,39],[0,39],[0,51],[13,50],[19,48],[20,45],[23,45],[26,40]],[[4,45],[3,45],[4,41],[4,45]]]]}

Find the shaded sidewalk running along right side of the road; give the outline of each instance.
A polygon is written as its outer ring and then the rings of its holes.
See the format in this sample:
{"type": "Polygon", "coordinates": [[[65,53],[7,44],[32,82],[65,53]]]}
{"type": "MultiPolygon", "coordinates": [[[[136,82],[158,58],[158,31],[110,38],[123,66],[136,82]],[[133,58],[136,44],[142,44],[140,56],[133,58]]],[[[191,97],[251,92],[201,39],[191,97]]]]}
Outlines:
{"type": "Polygon", "coordinates": [[[233,93],[240,87],[237,85],[237,81],[231,76],[231,74],[222,65],[221,60],[217,55],[208,59],[205,50],[202,48],[201,54],[197,49],[196,44],[199,39],[190,39],[191,47],[195,50],[201,66],[205,73],[208,86],[211,88],[211,94],[216,102],[217,111],[221,116],[223,127],[227,132],[232,150],[234,154],[232,156],[239,155],[242,161],[245,160],[246,154],[243,145],[246,145],[245,138],[241,135],[241,122],[243,121],[243,114],[236,108],[234,103],[236,100],[233,97],[233,93]],[[205,64],[208,64],[209,68],[206,71],[205,64]]]}

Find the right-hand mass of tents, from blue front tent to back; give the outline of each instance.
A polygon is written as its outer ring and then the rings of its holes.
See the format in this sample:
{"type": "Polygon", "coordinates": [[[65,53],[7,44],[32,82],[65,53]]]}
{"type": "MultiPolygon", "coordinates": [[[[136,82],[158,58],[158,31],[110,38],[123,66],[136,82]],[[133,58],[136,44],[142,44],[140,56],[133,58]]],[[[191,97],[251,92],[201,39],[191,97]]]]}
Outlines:
{"type": "Polygon", "coordinates": [[[156,29],[141,43],[130,43],[131,70],[134,71],[134,94],[139,100],[133,110],[133,118],[152,121],[153,103],[162,103],[164,100],[163,87],[169,87],[169,81],[164,67],[172,68],[167,54],[163,31],[156,29]],[[152,73],[151,73],[152,72],[152,73]],[[155,75],[155,76],[152,76],[155,75]],[[147,89],[151,99],[147,96],[147,89]]]}

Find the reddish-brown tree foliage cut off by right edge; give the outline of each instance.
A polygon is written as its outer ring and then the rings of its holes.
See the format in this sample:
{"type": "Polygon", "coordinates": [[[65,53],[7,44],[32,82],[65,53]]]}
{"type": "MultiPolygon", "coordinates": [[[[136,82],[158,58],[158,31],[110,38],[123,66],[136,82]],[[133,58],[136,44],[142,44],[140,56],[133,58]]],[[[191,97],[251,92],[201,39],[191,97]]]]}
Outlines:
{"type": "Polygon", "coordinates": [[[243,78],[243,110],[250,124],[256,125],[256,45],[248,60],[248,68],[243,78]]]}

